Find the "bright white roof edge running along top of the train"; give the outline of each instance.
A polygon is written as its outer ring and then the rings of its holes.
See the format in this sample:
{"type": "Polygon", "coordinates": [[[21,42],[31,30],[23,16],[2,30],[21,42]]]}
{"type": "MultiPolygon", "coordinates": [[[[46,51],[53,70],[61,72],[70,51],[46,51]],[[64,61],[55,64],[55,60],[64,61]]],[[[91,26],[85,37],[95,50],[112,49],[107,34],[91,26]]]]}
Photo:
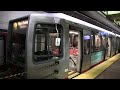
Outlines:
{"type": "Polygon", "coordinates": [[[118,37],[120,37],[120,35],[118,34],[115,34],[113,32],[110,32],[104,28],[101,28],[99,26],[96,26],[94,24],[91,24],[91,23],[88,23],[86,21],[83,21],[83,20],[80,20],[80,19],[77,19],[75,17],[72,17],[72,16],[69,16],[69,15],[66,15],[66,14],[63,14],[63,13],[33,13],[33,14],[30,14],[28,16],[25,16],[25,17],[22,17],[22,18],[18,18],[18,19],[14,19],[14,20],[11,20],[11,21],[15,21],[15,20],[20,20],[20,19],[24,19],[24,18],[28,18],[29,16],[46,16],[46,17],[53,17],[53,18],[58,18],[58,19],[64,19],[64,20],[67,20],[67,21],[71,21],[71,22],[74,22],[74,23],[77,23],[77,24],[80,24],[80,25],[84,25],[84,26],[87,26],[87,27],[90,27],[90,28],[93,28],[93,29],[96,29],[96,30],[99,30],[99,31],[102,31],[102,32],[106,32],[106,33],[109,33],[109,34],[112,34],[112,35],[116,35],[118,37]]]}

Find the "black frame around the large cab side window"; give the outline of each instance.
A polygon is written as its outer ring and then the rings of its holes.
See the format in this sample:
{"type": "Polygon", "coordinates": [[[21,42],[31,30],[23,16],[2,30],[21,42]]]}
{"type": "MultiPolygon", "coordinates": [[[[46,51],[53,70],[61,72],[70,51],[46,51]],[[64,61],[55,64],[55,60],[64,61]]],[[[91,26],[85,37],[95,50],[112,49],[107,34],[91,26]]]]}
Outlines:
{"type": "MultiPolygon", "coordinates": [[[[57,26],[58,27],[60,27],[61,29],[60,29],[60,31],[61,31],[61,33],[59,34],[60,35],[60,39],[61,39],[61,44],[60,44],[60,47],[59,47],[59,50],[60,50],[60,54],[59,55],[51,55],[51,56],[53,56],[53,57],[57,57],[57,58],[50,58],[50,53],[48,53],[47,55],[45,55],[45,58],[47,57],[47,59],[44,59],[44,60],[41,60],[41,59],[38,59],[38,60],[35,60],[35,29],[36,29],[36,25],[37,24],[46,24],[46,25],[53,25],[54,26],[54,29],[55,29],[55,23],[42,23],[42,22],[36,22],[35,24],[34,24],[34,33],[33,33],[33,62],[34,63],[44,63],[44,62],[50,62],[50,61],[54,61],[54,60],[60,60],[60,59],[62,59],[63,58],[63,26],[61,25],[61,24],[57,24],[57,26]]],[[[48,29],[48,31],[47,31],[47,38],[48,37],[50,37],[49,36],[49,30],[51,29],[51,28],[53,28],[53,27],[42,27],[42,28],[44,28],[44,29],[48,29]]],[[[49,46],[50,45],[50,43],[49,43],[49,39],[47,39],[47,46],[49,46]]],[[[50,49],[48,48],[48,50],[50,51],[50,49]]],[[[39,55],[40,56],[40,55],[39,55]]],[[[38,56],[38,57],[39,57],[38,56]]]]}

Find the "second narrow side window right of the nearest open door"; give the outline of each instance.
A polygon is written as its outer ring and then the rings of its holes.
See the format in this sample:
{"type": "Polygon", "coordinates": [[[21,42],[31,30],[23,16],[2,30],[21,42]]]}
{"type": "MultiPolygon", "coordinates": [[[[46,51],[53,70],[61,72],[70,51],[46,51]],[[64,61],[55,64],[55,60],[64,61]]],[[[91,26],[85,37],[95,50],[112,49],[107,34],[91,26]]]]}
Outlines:
{"type": "Polygon", "coordinates": [[[101,50],[101,37],[99,33],[95,34],[95,51],[101,50]]]}

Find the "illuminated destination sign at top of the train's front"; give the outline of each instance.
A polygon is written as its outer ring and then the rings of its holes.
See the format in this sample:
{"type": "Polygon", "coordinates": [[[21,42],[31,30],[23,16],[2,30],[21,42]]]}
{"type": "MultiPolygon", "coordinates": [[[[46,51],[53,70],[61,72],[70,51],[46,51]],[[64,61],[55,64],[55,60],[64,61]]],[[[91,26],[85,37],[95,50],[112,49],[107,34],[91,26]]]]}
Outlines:
{"type": "Polygon", "coordinates": [[[18,21],[13,23],[14,30],[27,28],[28,20],[18,21]]]}

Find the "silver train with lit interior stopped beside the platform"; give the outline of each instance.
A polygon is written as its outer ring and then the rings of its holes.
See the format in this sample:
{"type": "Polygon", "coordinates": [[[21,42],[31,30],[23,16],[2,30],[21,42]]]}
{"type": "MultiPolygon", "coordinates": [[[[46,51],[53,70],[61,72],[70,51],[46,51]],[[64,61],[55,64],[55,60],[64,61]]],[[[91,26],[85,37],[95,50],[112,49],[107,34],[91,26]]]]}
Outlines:
{"type": "Polygon", "coordinates": [[[9,22],[6,60],[27,79],[64,79],[117,54],[118,36],[62,13],[31,14],[9,22]]]}

